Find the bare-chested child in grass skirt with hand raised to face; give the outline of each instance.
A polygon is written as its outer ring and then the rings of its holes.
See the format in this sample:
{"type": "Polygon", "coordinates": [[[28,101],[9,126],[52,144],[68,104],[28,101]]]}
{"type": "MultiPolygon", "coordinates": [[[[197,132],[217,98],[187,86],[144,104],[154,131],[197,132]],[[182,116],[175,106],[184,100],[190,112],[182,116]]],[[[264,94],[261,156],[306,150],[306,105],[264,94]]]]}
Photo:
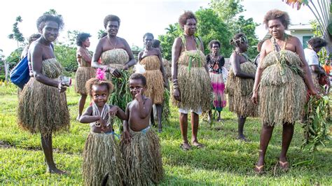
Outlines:
{"type": "Polygon", "coordinates": [[[146,78],[140,73],[130,76],[130,92],[134,100],[128,103],[124,135],[120,148],[125,159],[126,185],[156,185],[162,180],[162,159],[159,138],[149,126],[152,101],[142,96],[146,78]]]}

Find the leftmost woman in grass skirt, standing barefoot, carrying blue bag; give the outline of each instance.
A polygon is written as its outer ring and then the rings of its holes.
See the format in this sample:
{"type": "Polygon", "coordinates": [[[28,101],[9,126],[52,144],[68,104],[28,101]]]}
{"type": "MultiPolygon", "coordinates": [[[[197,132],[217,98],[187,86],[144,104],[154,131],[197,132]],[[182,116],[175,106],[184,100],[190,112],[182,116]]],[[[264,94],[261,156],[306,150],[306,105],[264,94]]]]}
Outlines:
{"type": "Polygon", "coordinates": [[[30,78],[19,98],[18,124],[32,133],[41,133],[41,147],[49,173],[65,173],[53,160],[52,134],[69,129],[67,86],[60,80],[63,68],[57,62],[52,42],[64,22],[62,17],[44,14],[37,20],[41,38],[34,41],[28,52],[34,77],[30,78]]]}

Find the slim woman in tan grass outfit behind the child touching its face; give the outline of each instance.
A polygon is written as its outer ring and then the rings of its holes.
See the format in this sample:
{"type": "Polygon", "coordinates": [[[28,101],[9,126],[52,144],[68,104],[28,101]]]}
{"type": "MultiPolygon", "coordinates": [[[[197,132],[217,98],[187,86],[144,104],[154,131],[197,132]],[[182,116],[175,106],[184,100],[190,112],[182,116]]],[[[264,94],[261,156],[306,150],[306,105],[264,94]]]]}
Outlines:
{"type": "MultiPolygon", "coordinates": [[[[167,85],[165,69],[162,65],[161,52],[158,48],[152,47],[153,34],[146,33],[143,36],[144,51],[139,52],[139,64],[144,66],[143,76],[146,78],[147,88],[145,95],[152,99],[158,115],[158,131],[162,131],[162,103],[164,101],[164,86],[167,85]]],[[[154,124],[153,112],[151,122],[154,124]]]]}

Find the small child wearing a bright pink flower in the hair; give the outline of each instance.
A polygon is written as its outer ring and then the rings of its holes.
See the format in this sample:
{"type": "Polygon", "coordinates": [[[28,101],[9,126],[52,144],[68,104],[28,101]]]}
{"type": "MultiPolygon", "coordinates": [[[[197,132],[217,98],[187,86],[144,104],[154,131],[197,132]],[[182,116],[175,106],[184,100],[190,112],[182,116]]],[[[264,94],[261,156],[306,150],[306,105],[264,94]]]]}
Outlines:
{"type": "Polygon", "coordinates": [[[97,69],[96,78],[85,84],[92,105],[79,119],[81,123],[90,123],[91,129],[83,150],[85,185],[101,185],[103,178],[108,178],[108,185],[123,185],[123,180],[127,178],[112,127],[114,116],[120,120],[127,120],[127,116],[118,106],[107,104],[113,85],[106,80],[104,73],[104,70],[97,69]]]}

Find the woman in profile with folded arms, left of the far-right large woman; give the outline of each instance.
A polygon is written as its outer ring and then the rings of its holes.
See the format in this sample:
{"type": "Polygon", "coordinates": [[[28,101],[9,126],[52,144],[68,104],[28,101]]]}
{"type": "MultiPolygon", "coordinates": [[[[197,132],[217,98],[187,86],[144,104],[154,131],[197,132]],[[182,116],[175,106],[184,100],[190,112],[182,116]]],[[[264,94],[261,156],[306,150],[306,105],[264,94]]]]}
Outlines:
{"type": "Polygon", "coordinates": [[[229,110],[237,113],[238,139],[247,141],[243,134],[244,123],[247,117],[256,117],[258,107],[251,102],[251,92],[254,87],[256,66],[244,53],[248,48],[247,37],[240,33],[235,34],[230,44],[235,46],[230,56],[230,71],[226,83],[229,110]]]}

